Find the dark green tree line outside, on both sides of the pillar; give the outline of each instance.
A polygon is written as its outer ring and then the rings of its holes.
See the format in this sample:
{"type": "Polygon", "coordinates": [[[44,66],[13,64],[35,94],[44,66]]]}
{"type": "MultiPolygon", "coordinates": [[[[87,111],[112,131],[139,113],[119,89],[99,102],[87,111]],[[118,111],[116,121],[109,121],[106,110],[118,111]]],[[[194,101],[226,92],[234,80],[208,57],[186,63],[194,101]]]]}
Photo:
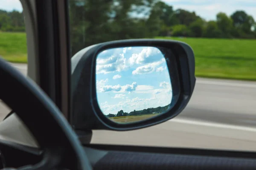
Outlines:
{"type": "MultiPolygon", "coordinates": [[[[194,11],[174,10],[160,0],[70,0],[72,54],[99,42],[157,36],[256,38],[245,11],[220,12],[206,21],[194,11]]],[[[0,31],[24,31],[22,12],[0,10],[0,31]]]]}

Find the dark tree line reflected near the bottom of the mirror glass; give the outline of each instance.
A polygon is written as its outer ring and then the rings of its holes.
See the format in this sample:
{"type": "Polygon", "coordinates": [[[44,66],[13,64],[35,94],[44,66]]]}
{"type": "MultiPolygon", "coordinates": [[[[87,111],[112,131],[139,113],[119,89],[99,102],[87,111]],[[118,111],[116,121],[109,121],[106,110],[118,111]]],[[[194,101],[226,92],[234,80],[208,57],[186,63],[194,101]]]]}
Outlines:
{"type": "Polygon", "coordinates": [[[157,114],[157,113],[163,113],[169,108],[169,105],[166,106],[159,106],[157,108],[147,108],[140,111],[131,111],[130,113],[124,112],[123,110],[118,111],[116,114],[109,113],[107,117],[121,117],[121,116],[138,116],[138,115],[145,115],[145,114],[157,114]]]}

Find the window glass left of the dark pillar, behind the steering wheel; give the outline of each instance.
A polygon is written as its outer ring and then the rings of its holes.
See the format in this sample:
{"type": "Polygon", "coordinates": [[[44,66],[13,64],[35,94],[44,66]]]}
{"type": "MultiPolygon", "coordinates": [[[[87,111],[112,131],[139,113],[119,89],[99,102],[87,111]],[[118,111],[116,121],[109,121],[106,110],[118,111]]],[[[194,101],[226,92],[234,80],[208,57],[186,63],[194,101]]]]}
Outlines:
{"type": "MultiPolygon", "coordinates": [[[[0,0],[0,57],[26,75],[27,45],[24,20],[20,0],[0,0]]],[[[10,111],[11,109],[0,100],[0,121],[10,111]]]]}

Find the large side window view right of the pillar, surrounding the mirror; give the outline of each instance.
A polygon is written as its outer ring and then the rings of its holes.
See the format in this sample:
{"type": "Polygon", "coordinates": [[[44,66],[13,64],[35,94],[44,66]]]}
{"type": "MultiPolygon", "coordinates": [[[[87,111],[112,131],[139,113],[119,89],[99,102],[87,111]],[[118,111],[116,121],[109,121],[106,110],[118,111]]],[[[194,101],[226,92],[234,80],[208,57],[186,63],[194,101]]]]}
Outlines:
{"type": "MultiPolygon", "coordinates": [[[[141,130],[94,130],[92,143],[255,150],[256,83],[247,81],[256,80],[255,2],[70,0],[69,5],[72,55],[96,43],[133,38],[180,40],[195,52],[195,91],[179,116],[141,130]]],[[[104,106],[114,108],[110,103],[104,106]]]]}

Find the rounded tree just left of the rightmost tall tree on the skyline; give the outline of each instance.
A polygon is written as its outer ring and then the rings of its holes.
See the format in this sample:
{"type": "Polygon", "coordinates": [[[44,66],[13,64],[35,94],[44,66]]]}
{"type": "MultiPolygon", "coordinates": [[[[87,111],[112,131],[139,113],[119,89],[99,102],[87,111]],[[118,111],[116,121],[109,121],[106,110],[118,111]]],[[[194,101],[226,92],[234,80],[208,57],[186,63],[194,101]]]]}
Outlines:
{"type": "Polygon", "coordinates": [[[233,21],[230,17],[228,17],[223,12],[219,12],[217,14],[217,25],[218,25],[219,30],[221,30],[224,33],[223,37],[230,36],[230,32],[233,27],[233,21]]]}

